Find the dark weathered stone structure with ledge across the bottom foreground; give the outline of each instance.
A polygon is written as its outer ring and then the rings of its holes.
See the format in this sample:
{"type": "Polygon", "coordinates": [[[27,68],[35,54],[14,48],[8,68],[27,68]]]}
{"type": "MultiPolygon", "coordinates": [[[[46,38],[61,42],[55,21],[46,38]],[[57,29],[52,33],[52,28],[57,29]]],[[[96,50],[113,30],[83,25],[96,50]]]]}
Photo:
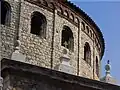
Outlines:
{"type": "Polygon", "coordinates": [[[8,59],[2,60],[2,76],[3,90],[120,90],[117,85],[8,59]]]}

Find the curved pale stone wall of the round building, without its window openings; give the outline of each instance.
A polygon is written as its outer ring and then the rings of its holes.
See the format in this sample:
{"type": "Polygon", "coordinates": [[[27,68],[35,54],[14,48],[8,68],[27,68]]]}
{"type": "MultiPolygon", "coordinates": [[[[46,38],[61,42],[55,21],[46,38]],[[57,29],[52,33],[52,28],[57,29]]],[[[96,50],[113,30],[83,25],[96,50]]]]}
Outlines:
{"type": "MultiPolygon", "coordinates": [[[[74,12],[66,6],[61,6],[64,7],[62,10],[60,3],[54,3],[56,4],[54,11],[54,9],[50,10],[42,5],[35,5],[24,0],[22,0],[21,3],[20,0],[6,1],[11,5],[12,13],[10,27],[0,25],[2,39],[0,52],[2,58],[11,58],[17,36],[19,36],[21,42],[20,52],[26,55],[27,63],[54,69],[56,65],[60,64],[60,57],[63,54],[63,49],[65,49],[65,47],[61,45],[61,36],[63,27],[66,25],[71,29],[74,37],[74,50],[68,52],[70,64],[74,68],[74,75],[91,79],[94,79],[95,76],[98,79],[95,72],[95,57],[97,56],[100,62],[101,50],[99,49],[101,49],[102,46],[101,42],[99,42],[100,40],[97,40],[99,39],[96,34],[97,31],[95,31],[95,28],[90,25],[87,20],[83,19],[80,15],[75,16],[75,14],[70,14],[70,12],[74,12]],[[65,9],[68,10],[69,13],[65,11],[65,9]],[[31,15],[34,11],[38,11],[46,17],[46,38],[30,33],[31,15]],[[86,28],[85,30],[81,29],[81,22],[89,26],[89,32],[86,28]],[[91,65],[84,60],[85,42],[88,42],[90,45],[91,65]]],[[[53,2],[53,0],[50,1],[53,2]]]]}

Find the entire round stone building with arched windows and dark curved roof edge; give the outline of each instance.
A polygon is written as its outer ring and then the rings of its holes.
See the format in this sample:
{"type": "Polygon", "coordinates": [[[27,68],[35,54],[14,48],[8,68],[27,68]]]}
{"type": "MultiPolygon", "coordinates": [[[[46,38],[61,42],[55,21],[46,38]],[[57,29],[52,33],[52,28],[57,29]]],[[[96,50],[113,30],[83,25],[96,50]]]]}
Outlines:
{"type": "Polygon", "coordinates": [[[22,62],[55,69],[66,50],[72,74],[99,80],[104,39],[84,11],[67,0],[0,2],[1,59],[12,58],[20,41],[22,62]]]}

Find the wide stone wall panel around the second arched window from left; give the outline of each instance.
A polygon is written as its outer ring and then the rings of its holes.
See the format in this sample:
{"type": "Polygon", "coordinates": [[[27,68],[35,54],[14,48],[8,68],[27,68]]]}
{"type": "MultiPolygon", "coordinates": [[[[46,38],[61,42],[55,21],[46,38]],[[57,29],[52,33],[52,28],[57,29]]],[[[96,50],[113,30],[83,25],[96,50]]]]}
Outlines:
{"type": "Polygon", "coordinates": [[[26,55],[26,62],[50,68],[53,13],[28,2],[23,2],[21,8],[21,52],[26,55]],[[34,11],[42,13],[47,19],[46,39],[30,33],[31,15],[34,11]]]}

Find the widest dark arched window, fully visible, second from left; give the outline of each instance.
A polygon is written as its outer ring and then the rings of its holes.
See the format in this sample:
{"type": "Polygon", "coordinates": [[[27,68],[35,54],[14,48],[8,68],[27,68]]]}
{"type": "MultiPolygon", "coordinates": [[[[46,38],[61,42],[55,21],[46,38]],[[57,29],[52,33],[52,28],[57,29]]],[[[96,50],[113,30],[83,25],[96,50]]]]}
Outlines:
{"type": "Polygon", "coordinates": [[[45,38],[46,26],[46,17],[40,12],[33,12],[31,16],[31,33],[45,38]]]}

